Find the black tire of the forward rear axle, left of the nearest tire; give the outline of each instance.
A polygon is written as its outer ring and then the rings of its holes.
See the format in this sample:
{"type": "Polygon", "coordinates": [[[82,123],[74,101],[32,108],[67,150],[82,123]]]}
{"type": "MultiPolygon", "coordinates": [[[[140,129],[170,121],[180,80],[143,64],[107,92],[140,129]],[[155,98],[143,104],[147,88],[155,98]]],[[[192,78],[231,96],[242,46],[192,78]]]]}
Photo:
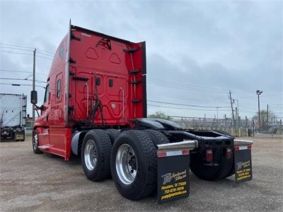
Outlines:
{"type": "Polygon", "coordinates": [[[84,136],[81,146],[81,164],[86,177],[91,181],[100,181],[109,177],[111,147],[110,138],[102,129],[92,129],[84,136]],[[90,154],[96,154],[96,156],[94,156],[96,158],[95,165],[90,162],[93,162],[91,156],[89,160],[88,156],[85,157],[86,146],[91,145],[91,143],[94,143],[96,146],[96,151],[90,152],[90,154]],[[93,166],[93,168],[91,168],[91,166],[93,166]]]}

